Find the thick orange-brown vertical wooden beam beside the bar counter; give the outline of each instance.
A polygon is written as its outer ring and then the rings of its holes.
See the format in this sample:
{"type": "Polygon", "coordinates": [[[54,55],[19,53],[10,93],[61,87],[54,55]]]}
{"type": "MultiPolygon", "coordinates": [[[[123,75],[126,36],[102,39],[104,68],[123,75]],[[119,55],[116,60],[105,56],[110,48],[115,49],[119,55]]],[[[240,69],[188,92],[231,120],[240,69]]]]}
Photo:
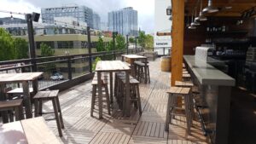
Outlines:
{"type": "Polygon", "coordinates": [[[172,86],[182,80],[184,0],[172,0],[172,86]]]}

